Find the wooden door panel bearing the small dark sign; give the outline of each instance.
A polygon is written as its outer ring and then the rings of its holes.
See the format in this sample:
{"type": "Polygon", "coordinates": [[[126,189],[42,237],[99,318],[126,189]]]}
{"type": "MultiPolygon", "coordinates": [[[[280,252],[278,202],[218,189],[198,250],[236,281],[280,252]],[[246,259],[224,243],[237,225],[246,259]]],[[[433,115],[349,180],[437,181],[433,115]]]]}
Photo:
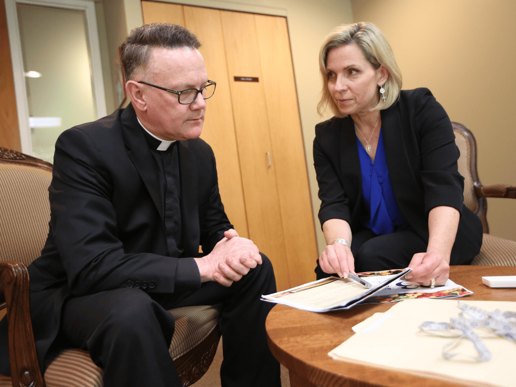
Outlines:
{"type": "Polygon", "coordinates": [[[269,167],[267,158],[267,152],[273,155],[254,15],[222,11],[221,16],[249,236],[269,256],[278,289],[286,289],[289,268],[275,162],[272,157],[269,167]],[[259,82],[235,82],[235,76],[257,77],[259,82]]]}

